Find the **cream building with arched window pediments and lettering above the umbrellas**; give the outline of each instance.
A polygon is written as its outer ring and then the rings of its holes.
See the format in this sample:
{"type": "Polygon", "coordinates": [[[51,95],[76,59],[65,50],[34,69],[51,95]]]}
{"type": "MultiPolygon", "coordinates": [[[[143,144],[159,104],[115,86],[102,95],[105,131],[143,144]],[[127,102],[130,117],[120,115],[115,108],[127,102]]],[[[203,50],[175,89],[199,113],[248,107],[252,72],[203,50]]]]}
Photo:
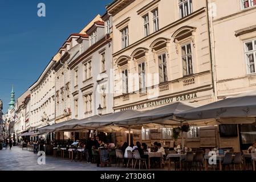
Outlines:
{"type": "MultiPolygon", "coordinates": [[[[115,111],[214,101],[206,1],[120,0],[107,10],[113,16],[115,111]]],[[[133,141],[170,142],[171,133],[143,129],[133,132],[133,141]]],[[[127,140],[122,135],[120,144],[127,140]]]]}

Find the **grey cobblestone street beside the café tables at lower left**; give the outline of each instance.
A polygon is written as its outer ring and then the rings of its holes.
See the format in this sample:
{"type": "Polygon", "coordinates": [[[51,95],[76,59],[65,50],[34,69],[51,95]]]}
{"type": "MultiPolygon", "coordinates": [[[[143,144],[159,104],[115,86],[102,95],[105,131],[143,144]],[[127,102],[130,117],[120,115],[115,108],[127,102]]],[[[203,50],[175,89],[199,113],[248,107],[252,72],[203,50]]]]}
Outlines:
{"type": "Polygon", "coordinates": [[[37,163],[38,156],[32,151],[22,150],[20,147],[13,147],[11,150],[5,148],[0,150],[0,171],[108,171],[108,170],[131,170],[129,168],[113,167],[97,167],[96,164],[87,164],[83,162],[71,162],[71,160],[54,156],[46,156],[46,164],[39,165],[37,163]]]}

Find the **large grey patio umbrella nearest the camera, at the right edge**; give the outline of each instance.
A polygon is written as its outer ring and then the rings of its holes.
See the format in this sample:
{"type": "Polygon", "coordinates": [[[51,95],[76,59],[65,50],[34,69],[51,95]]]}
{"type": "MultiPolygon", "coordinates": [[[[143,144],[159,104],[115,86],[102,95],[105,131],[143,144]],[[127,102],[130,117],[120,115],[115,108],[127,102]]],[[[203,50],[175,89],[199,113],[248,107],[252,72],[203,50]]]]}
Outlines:
{"type": "Polygon", "coordinates": [[[256,90],[196,107],[175,116],[195,125],[253,123],[256,116],[255,100],[256,90]]]}

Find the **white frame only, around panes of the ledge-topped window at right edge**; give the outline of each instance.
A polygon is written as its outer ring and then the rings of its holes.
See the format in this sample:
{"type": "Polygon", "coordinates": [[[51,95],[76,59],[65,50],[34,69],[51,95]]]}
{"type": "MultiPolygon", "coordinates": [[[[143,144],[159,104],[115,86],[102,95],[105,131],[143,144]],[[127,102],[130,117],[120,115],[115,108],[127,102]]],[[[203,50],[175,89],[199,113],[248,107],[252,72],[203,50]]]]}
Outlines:
{"type": "Polygon", "coordinates": [[[247,75],[255,74],[256,73],[256,38],[253,40],[246,40],[245,42],[243,42],[243,47],[244,47],[244,52],[245,52],[246,73],[247,73],[247,75]],[[250,43],[250,42],[253,44],[253,49],[251,51],[246,51],[246,49],[247,49],[246,44],[250,43]],[[249,55],[249,54],[253,54],[254,72],[250,72],[250,67],[248,67],[248,65],[250,65],[250,61],[247,60],[247,55],[249,55]]]}

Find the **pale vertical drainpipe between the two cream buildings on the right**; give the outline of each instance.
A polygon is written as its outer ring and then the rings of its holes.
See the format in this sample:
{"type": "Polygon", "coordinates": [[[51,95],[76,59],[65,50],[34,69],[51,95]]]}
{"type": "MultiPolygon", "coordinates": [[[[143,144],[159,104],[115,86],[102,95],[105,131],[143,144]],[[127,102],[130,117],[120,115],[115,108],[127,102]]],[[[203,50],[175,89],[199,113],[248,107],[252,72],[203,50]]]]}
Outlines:
{"type": "Polygon", "coordinates": [[[208,36],[209,36],[209,46],[210,46],[210,62],[212,67],[212,83],[213,83],[213,95],[214,102],[218,100],[217,98],[217,73],[216,73],[216,59],[215,59],[215,39],[214,39],[214,29],[213,29],[213,18],[209,15],[209,3],[211,0],[206,0],[206,10],[208,19],[208,36]]]}

